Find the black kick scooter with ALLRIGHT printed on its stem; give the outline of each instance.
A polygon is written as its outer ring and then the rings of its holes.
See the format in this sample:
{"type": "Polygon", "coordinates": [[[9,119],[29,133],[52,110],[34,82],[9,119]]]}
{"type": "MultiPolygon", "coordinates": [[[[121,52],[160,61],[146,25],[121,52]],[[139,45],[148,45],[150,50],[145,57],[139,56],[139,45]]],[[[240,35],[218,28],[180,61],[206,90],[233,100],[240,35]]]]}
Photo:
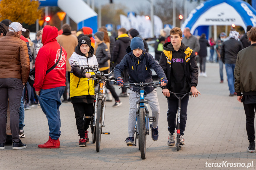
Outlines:
{"type": "Polygon", "coordinates": [[[176,125],[176,129],[177,129],[177,143],[176,143],[176,147],[177,147],[177,151],[179,151],[179,148],[183,145],[182,143],[180,143],[180,111],[181,111],[181,100],[183,98],[185,98],[187,95],[192,95],[192,92],[186,93],[186,94],[180,94],[180,93],[173,93],[171,91],[169,91],[170,94],[173,94],[178,100],[178,118],[177,118],[177,125],[176,125]]]}

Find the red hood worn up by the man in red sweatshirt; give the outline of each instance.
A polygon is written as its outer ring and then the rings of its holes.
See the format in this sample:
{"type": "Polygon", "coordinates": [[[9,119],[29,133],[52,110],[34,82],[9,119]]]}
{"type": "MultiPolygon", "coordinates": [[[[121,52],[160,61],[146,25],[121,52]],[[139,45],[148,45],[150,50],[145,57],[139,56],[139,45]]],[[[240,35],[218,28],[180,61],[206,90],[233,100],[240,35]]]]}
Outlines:
{"type": "Polygon", "coordinates": [[[57,41],[56,37],[58,36],[58,28],[45,25],[43,29],[43,35],[42,35],[42,43],[43,46],[49,42],[57,41]]]}

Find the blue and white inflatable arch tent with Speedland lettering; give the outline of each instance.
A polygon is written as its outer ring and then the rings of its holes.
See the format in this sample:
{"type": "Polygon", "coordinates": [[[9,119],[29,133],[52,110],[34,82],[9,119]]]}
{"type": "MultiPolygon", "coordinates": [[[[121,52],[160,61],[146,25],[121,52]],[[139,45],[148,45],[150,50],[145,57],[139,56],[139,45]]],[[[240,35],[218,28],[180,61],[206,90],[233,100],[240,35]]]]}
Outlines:
{"type": "Polygon", "coordinates": [[[192,34],[201,35],[199,32],[202,33],[202,28],[205,30],[211,25],[232,24],[243,27],[245,32],[248,25],[255,27],[255,9],[242,0],[208,0],[190,12],[181,30],[189,27],[192,34]]]}

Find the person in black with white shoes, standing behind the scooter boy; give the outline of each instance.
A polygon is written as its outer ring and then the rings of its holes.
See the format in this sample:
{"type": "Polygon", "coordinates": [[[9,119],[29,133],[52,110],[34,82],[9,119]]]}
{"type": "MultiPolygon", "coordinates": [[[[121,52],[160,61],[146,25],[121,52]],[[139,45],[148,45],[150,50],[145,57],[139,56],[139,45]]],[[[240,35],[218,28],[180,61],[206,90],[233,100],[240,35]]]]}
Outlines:
{"type": "Polygon", "coordinates": [[[207,47],[210,46],[208,40],[205,37],[206,35],[202,33],[201,38],[199,39],[200,50],[198,51],[199,63],[200,63],[200,75],[203,77],[207,77],[205,72],[206,56],[207,56],[207,47]]]}

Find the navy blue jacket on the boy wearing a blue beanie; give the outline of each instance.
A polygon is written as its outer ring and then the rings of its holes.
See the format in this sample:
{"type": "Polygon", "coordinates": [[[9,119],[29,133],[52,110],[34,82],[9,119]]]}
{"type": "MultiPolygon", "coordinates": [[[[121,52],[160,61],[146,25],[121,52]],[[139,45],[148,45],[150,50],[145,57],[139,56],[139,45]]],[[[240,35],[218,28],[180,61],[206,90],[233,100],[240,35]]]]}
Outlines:
{"type": "MultiPolygon", "coordinates": [[[[141,56],[136,57],[133,55],[131,47],[126,48],[126,55],[114,69],[115,77],[121,77],[121,72],[128,67],[129,73],[129,82],[131,83],[148,83],[153,82],[152,80],[152,71],[150,68],[154,69],[160,80],[166,79],[165,73],[163,72],[162,67],[154,60],[153,56],[146,52],[144,49],[141,56]]],[[[167,80],[167,79],[166,79],[167,80]]],[[[139,87],[139,86],[138,86],[139,87]]],[[[132,88],[133,91],[138,91],[139,88],[132,88]]],[[[146,87],[144,91],[150,93],[154,88],[146,87]]]]}

